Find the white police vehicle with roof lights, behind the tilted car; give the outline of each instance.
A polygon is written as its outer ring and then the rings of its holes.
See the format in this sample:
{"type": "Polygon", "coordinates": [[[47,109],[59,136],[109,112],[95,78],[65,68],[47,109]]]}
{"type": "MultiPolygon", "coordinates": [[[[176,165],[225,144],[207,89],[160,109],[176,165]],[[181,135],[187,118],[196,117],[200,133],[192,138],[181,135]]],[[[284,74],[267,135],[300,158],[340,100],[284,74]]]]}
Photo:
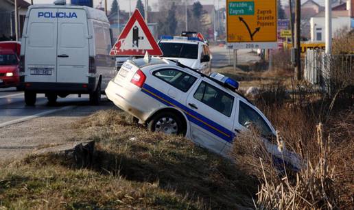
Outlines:
{"type": "Polygon", "coordinates": [[[161,36],[158,46],[163,51],[163,57],[177,60],[205,75],[211,73],[212,56],[204,40],[197,37],[161,36]]]}

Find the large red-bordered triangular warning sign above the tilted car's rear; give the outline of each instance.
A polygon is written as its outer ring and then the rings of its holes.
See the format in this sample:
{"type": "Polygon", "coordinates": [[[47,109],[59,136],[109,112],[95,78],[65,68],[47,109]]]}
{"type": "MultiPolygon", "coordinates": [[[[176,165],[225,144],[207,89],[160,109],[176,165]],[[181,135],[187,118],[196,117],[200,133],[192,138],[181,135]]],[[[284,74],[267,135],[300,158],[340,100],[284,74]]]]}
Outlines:
{"type": "Polygon", "coordinates": [[[146,52],[149,55],[163,55],[143,16],[139,10],[135,10],[110,50],[110,55],[143,56],[146,52]]]}

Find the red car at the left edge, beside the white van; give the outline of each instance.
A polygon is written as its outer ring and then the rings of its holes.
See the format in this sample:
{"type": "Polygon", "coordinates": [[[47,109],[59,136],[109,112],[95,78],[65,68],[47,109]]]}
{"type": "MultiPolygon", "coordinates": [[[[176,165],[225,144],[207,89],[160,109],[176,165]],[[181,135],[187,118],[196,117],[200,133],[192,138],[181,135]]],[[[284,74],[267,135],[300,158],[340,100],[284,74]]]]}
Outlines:
{"type": "Polygon", "coordinates": [[[0,42],[0,88],[19,86],[20,49],[19,42],[0,42]]]}

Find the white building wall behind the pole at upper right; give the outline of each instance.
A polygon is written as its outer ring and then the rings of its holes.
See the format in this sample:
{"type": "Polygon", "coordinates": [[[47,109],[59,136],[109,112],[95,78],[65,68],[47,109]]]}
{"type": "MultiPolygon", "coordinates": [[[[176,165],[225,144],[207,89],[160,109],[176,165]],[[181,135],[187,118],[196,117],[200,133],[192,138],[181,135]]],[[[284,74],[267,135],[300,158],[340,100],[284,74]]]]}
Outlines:
{"type": "MultiPolygon", "coordinates": [[[[325,42],[325,17],[311,18],[310,26],[311,41],[325,42]],[[320,36],[319,40],[318,35],[320,36]]],[[[332,36],[335,37],[338,34],[338,31],[342,29],[351,29],[351,18],[349,16],[339,16],[332,18],[332,36]]]]}

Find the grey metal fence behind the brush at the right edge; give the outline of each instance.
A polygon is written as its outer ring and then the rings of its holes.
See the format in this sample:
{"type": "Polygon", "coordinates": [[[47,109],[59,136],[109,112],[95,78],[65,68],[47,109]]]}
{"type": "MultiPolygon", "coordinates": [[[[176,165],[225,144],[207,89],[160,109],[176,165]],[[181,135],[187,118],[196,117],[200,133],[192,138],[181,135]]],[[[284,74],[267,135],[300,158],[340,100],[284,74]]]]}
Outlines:
{"type": "Polygon", "coordinates": [[[307,50],[305,80],[326,92],[354,85],[354,54],[328,55],[322,50],[307,50]]]}

